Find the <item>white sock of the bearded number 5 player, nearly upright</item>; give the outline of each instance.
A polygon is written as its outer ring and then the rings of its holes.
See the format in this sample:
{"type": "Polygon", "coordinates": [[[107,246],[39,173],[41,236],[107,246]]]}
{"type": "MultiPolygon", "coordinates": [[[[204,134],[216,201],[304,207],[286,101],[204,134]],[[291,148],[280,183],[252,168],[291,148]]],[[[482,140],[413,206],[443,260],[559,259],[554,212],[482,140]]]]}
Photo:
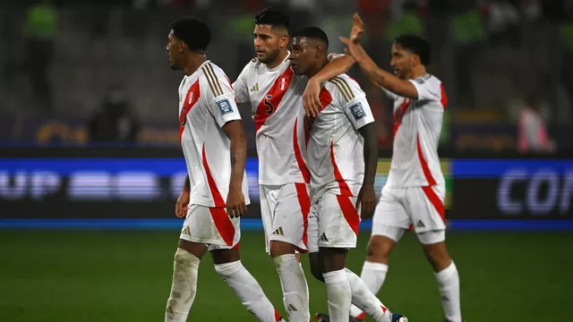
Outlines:
{"type": "Polygon", "coordinates": [[[291,322],[308,322],[311,318],[308,303],[308,285],[295,254],[281,255],[272,259],[277,267],[283,301],[291,322]]]}

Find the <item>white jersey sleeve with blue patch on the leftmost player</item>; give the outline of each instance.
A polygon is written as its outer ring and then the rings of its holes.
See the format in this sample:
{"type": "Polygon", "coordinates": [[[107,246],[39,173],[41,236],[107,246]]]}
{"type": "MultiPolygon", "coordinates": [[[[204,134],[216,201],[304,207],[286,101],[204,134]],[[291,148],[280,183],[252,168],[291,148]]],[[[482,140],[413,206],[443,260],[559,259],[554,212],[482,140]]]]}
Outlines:
{"type": "Polygon", "coordinates": [[[235,91],[224,76],[211,77],[205,75],[207,79],[205,105],[210,114],[213,115],[219,127],[225,123],[241,119],[241,114],[236,107],[235,91]]]}

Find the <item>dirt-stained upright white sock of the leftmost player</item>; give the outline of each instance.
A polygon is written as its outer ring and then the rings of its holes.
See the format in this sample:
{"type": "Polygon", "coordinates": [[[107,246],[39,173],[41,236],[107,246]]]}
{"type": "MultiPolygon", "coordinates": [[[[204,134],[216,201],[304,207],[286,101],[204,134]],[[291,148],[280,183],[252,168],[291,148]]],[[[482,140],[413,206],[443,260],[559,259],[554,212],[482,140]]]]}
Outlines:
{"type": "Polygon", "coordinates": [[[173,284],[167,300],[166,322],[185,322],[197,293],[199,258],[183,249],[175,251],[173,284]]]}

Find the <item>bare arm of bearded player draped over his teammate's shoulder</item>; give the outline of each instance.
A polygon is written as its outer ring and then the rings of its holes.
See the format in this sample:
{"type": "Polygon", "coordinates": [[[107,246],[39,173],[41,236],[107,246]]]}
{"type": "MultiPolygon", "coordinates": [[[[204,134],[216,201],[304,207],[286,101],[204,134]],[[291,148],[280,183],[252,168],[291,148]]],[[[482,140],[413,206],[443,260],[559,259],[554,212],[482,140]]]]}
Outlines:
{"type": "Polygon", "coordinates": [[[304,89],[303,105],[307,116],[315,117],[321,110],[321,83],[348,72],[354,64],[355,60],[350,55],[329,55],[329,64],[324,66],[316,75],[312,76],[308,80],[306,89],[304,89]]]}

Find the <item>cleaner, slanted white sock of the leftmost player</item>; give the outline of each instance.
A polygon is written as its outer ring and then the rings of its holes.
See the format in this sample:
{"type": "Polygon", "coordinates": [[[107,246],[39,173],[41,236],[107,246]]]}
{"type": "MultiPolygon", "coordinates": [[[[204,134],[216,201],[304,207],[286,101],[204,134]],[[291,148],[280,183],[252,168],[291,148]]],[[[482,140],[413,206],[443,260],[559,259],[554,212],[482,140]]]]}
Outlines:
{"type": "Polygon", "coordinates": [[[260,322],[278,321],[278,312],[262,292],[261,285],[244,268],[240,260],[215,265],[215,270],[225,283],[235,291],[244,307],[260,322]]]}

